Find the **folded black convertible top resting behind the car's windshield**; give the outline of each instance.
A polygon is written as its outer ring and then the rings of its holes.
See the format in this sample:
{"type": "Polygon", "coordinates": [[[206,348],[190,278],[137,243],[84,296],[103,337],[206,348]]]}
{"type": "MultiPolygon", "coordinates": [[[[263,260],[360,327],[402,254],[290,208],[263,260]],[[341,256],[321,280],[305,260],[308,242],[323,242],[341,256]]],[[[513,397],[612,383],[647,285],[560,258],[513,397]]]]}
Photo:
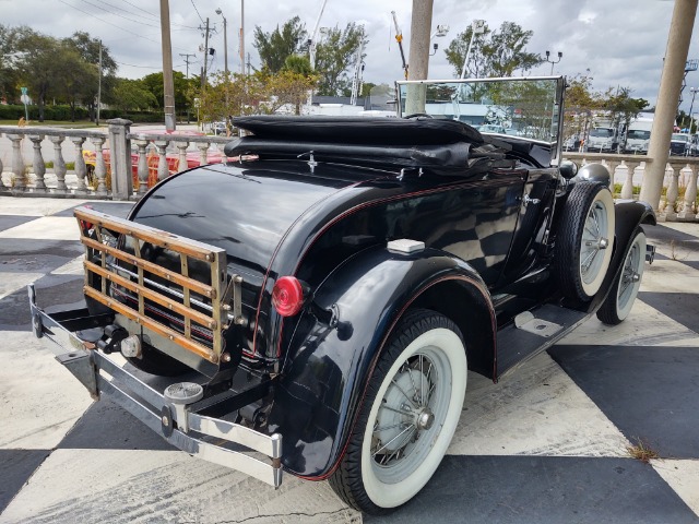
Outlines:
{"type": "Polygon", "coordinates": [[[233,123],[253,133],[226,144],[226,156],[309,158],[387,168],[429,168],[443,174],[487,169],[505,158],[472,127],[431,118],[238,117],[233,123]]]}

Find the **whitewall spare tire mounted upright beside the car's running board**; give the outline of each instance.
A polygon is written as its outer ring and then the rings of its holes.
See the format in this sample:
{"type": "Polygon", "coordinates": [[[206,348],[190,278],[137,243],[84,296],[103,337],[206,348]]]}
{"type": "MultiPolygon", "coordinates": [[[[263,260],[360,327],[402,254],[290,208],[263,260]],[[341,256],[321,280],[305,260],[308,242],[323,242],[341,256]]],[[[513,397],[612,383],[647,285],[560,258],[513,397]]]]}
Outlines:
{"type": "Polygon", "coordinates": [[[554,273],[562,294],[591,299],[612,260],[614,199],[606,186],[580,181],[562,210],[554,248],[554,273]]]}

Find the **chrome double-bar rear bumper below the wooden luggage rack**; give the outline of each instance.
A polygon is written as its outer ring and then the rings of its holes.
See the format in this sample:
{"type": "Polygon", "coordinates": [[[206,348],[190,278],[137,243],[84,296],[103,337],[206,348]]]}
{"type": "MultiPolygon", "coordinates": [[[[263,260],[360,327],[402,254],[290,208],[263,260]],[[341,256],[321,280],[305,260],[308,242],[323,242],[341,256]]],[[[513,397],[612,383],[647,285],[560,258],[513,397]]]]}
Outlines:
{"type": "MultiPolygon", "coordinates": [[[[275,488],[282,484],[281,434],[268,436],[239,424],[194,413],[192,404],[170,402],[109,356],[85,347],[71,329],[79,323],[81,314],[84,318],[86,310],[49,314],[36,306],[32,285],[28,295],[34,334],[54,343],[47,346],[57,360],[87,388],[93,398],[105,395],[191,455],[239,471],[275,488]],[[209,438],[224,443],[213,444],[209,438]],[[245,450],[232,449],[239,446],[245,450]],[[268,461],[251,456],[250,452],[266,455],[268,461]]],[[[96,318],[92,321],[98,323],[96,318]]],[[[90,325],[82,326],[86,327],[90,325]]]]}

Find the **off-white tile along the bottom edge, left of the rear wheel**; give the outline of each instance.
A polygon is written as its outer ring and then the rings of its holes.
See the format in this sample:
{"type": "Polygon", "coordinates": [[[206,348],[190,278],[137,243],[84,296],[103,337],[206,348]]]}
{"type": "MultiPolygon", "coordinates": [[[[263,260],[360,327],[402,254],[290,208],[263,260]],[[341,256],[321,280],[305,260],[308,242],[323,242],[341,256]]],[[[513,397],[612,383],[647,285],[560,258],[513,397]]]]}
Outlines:
{"type": "Polygon", "coordinates": [[[57,450],[0,523],[360,522],[327,483],[286,475],[279,490],[176,451],[57,450]],[[288,516],[286,516],[288,515],[288,516]]]}

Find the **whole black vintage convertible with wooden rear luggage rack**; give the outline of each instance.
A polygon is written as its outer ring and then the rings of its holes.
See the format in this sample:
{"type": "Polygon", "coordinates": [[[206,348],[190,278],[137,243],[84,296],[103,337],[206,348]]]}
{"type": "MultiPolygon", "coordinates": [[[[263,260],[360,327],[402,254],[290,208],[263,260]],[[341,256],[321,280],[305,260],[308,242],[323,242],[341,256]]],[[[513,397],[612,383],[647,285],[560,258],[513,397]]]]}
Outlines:
{"type": "Polygon", "coordinates": [[[188,453],[396,508],[437,469],[466,370],[497,381],[592,314],[621,322],[652,259],[652,210],[561,162],[564,92],[401,82],[401,118],[237,118],[234,162],[126,221],[75,212],[86,307],[48,314],[29,288],[36,335],[188,453]],[[463,123],[483,115],[519,134],[463,123]]]}

